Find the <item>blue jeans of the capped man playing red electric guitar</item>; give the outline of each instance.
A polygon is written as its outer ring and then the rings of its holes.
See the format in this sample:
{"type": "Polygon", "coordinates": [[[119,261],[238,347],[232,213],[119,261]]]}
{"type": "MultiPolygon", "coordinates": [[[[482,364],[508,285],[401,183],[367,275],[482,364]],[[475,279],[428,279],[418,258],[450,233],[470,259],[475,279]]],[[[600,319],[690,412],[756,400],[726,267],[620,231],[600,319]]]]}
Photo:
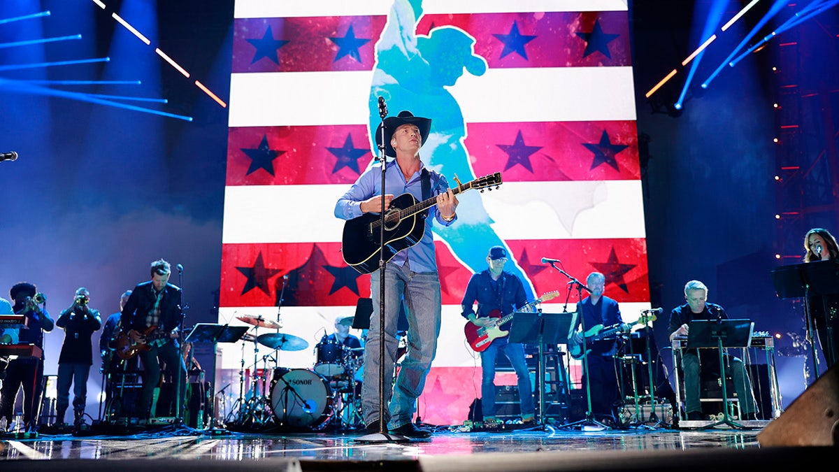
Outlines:
{"type": "Polygon", "coordinates": [[[524,344],[509,343],[508,338],[496,338],[481,353],[481,409],[483,417],[495,417],[495,363],[498,351],[503,351],[510,359],[518,377],[519,406],[522,416],[533,415],[533,389],[530,388],[530,373],[524,359],[524,344]]]}

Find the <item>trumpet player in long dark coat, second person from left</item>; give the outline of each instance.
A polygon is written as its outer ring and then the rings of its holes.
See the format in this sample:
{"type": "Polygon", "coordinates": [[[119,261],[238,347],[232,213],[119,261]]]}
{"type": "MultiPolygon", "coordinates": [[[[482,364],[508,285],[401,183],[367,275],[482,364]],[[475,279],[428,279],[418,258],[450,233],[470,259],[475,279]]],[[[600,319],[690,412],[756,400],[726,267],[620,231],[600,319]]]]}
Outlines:
{"type": "Polygon", "coordinates": [[[58,399],[55,404],[55,422],[65,423],[67,406],[70,406],[70,384],[73,385],[73,425],[78,430],[84,423],[87,402],[87,376],[93,364],[91,335],[102,328],[98,310],[88,305],[91,292],[85,287],[76,289],[73,304],[65,308],[55,320],[64,329],[64,344],[58,358],[58,399]]]}

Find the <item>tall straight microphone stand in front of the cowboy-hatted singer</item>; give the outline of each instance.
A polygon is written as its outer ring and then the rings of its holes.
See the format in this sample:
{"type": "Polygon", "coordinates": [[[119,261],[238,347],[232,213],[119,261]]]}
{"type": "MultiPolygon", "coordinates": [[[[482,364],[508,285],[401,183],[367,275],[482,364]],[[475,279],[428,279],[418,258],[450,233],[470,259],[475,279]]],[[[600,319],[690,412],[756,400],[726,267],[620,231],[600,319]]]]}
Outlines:
{"type": "Polygon", "coordinates": [[[385,154],[387,143],[384,142],[384,118],[388,116],[388,107],[384,103],[383,97],[378,97],[378,116],[382,120],[382,134],[378,144],[378,161],[382,164],[382,207],[379,213],[379,247],[378,247],[378,433],[365,434],[361,438],[357,438],[360,443],[407,443],[408,438],[400,434],[391,434],[387,432],[388,425],[384,421],[384,295],[385,295],[385,266],[387,263],[384,260],[384,223],[385,223],[385,208],[384,196],[385,191],[385,170],[387,170],[388,156],[385,154]]]}

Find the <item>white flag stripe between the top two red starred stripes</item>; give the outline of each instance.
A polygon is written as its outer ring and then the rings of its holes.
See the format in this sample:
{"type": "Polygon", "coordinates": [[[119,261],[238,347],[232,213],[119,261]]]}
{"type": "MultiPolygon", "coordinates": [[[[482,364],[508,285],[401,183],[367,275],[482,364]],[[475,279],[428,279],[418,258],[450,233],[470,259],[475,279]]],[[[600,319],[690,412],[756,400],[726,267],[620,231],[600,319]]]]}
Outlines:
{"type": "MultiPolygon", "coordinates": [[[[232,74],[229,125],[367,125],[372,80],[372,71],[232,74]]],[[[631,67],[490,69],[450,91],[466,123],[635,119],[631,67]]]]}

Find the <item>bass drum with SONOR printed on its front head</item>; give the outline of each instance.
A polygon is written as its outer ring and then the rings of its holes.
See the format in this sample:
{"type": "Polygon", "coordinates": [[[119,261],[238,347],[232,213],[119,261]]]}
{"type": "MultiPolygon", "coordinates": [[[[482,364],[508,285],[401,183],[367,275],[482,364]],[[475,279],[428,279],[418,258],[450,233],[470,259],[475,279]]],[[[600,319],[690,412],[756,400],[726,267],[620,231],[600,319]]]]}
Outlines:
{"type": "Polygon", "coordinates": [[[332,389],[311,370],[279,368],[271,380],[270,401],[281,426],[318,427],[331,417],[332,389]]]}

